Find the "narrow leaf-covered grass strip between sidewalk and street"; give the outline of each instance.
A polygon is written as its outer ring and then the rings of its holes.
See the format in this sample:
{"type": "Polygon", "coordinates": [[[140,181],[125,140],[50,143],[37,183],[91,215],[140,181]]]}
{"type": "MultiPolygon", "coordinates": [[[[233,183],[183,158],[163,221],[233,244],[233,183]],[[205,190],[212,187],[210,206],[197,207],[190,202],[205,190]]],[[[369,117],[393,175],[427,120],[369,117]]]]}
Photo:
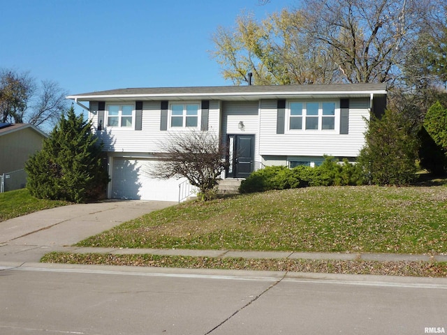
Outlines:
{"type": "Polygon", "coordinates": [[[326,274],[447,277],[447,262],[210,258],[148,254],[111,255],[100,253],[48,253],[41,259],[41,262],[83,265],[126,265],[137,267],[179,267],[186,269],[243,269],[326,274]]]}

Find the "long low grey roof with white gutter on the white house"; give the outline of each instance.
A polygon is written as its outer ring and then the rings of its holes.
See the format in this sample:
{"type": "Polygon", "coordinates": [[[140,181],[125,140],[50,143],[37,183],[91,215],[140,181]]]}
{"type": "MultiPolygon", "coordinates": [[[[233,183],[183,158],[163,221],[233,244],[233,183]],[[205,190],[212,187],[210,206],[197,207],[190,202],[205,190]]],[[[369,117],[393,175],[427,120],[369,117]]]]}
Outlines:
{"type": "Polygon", "coordinates": [[[315,96],[356,98],[386,94],[386,84],[328,85],[249,85],[220,87],[154,87],[111,89],[74,94],[66,98],[78,101],[156,101],[156,100],[258,100],[265,98],[312,98],[315,96]]]}

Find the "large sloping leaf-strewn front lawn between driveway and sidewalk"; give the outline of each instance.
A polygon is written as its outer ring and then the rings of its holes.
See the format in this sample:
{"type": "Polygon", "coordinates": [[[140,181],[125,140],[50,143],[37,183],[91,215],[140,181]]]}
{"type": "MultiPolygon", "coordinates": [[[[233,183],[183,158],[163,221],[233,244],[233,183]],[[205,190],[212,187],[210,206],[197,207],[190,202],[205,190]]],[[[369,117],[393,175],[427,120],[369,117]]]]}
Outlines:
{"type": "Polygon", "coordinates": [[[187,202],[78,246],[447,253],[447,186],[343,186],[187,202]]]}

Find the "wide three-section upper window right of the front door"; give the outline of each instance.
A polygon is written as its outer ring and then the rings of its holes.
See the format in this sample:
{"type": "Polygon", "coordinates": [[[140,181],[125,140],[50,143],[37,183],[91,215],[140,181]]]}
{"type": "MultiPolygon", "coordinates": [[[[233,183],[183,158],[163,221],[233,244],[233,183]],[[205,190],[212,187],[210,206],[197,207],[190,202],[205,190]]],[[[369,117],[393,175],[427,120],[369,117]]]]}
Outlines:
{"type": "Polygon", "coordinates": [[[289,103],[290,130],[335,130],[335,103],[289,103]]]}

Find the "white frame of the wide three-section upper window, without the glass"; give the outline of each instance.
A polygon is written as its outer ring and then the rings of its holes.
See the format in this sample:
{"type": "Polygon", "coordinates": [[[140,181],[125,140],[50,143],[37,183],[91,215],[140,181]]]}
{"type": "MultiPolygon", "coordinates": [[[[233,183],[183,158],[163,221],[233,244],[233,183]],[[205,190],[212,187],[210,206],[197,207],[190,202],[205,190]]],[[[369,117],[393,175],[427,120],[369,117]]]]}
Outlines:
{"type": "Polygon", "coordinates": [[[328,101],[288,101],[287,104],[287,125],[286,133],[330,133],[339,134],[340,126],[340,106],[338,101],[328,100],[328,101]],[[291,114],[291,103],[302,103],[302,128],[293,129],[291,128],[291,118],[297,117],[291,114]],[[308,103],[318,103],[318,115],[307,115],[307,104],[308,103]],[[323,115],[323,103],[334,103],[335,105],[335,115],[334,115],[334,129],[323,129],[323,117],[330,117],[329,115],[323,115]],[[306,119],[307,117],[318,117],[318,128],[317,129],[306,129],[306,119]]]}

